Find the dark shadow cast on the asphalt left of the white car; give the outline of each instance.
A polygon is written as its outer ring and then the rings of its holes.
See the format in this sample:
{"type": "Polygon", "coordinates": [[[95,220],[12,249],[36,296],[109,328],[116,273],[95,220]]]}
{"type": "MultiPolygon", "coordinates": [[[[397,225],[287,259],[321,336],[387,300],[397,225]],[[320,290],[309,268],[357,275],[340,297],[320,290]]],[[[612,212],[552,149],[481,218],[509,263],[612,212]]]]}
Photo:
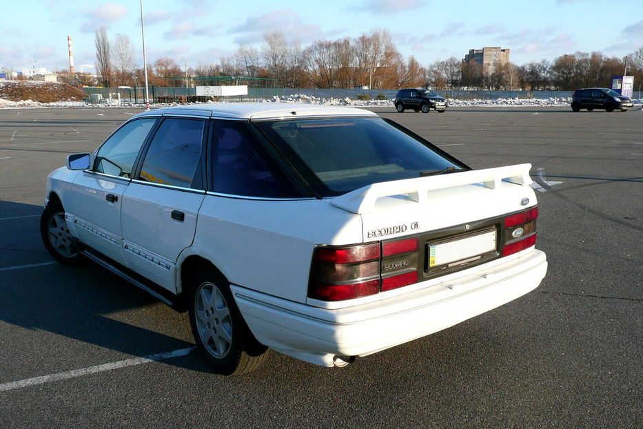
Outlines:
{"type": "MultiPolygon", "coordinates": [[[[50,355],[51,348],[60,347],[58,353],[67,357],[78,353],[87,361],[88,354],[99,350],[74,341],[52,346],[47,336],[39,345],[43,336],[37,330],[127,355],[107,352],[96,364],[194,346],[185,313],[172,310],[90,261],[82,266],[55,262],[41,242],[39,217],[34,215],[41,210],[30,204],[0,201],[0,248],[17,255],[8,262],[0,261],[0,321],[34,331],[29,334],[35,341],[30,353],[46,347],[48,350],[41,351],[50,355]],[[70,344],[71,348],[65,349],[70,344]]],[[[21,359],[19,348],[6,344],[6,351],[10,359],[21,359]],[[9,356],[12,353],[17,355],[9,356]]],[[[164,362],[211,372],[196,351],[164,362]]]]}

